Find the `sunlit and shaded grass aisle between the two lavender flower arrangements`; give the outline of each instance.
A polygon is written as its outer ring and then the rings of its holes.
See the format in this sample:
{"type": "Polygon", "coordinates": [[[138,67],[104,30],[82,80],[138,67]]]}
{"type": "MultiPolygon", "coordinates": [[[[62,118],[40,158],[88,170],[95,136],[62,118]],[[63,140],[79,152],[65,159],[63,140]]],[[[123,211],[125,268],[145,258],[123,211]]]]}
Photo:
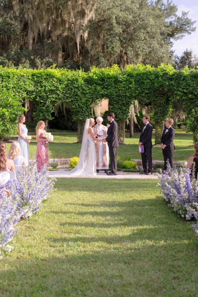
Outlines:
{"type": "Polygon", "coordinates": [[[99,184],[58,179],[0,262],[1,296],[197,296],[197,236],[157,181],[99,184]]]}

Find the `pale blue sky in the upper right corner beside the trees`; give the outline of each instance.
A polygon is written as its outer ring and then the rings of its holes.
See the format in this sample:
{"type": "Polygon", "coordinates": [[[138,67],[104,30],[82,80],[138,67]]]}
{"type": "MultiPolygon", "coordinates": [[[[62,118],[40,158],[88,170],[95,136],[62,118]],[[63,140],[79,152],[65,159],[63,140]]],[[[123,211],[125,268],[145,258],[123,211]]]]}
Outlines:
{"type": "MultiPolygon", "coordinates": [[[[164,2],[166,2],[164,0],[164,2]]],[[[181,56],[184,50],[191,49],[194,54],[198,55],[198,0],[173,0],[174,4],[178,6],[177,15],[181,15],[182,10],[189,11],[188,17],[191,20],[196,20],[196,31],[190,35],[186,35],[181,40],[174,41],[173,50],[175,54],[181,56]]]]}

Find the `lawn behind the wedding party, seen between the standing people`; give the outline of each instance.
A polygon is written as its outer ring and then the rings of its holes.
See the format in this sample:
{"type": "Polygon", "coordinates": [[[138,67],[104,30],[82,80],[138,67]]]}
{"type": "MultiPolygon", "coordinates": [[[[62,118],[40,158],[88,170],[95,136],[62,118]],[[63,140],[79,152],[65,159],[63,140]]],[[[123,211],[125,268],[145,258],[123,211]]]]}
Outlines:
{"type": "MultiPolygon", "coordinates": [[[[141,159],[141,155],[138,149],[139,134],[135,134],[134,138],[129,138],[129,134],[126,134],[125,143],[126,145],[120,145],[117,149],[117,156],[124,158],[131,156],[132,159],[141,159]]],[[[154,134],[152,142],[154,143],[154,134]]],[[[175,134],[175,147],[176,150],[173,153],[175,161],[185,162],[194,152],[193,149],[193,135],[180,133],[175,134]]],[[[49,157],[50,158],[71,158],[79,156],[80,143],[77,142],[77,133],[71,134],[55,134],[54,141],[49,144],[49,157]]],[[[9,150],[10,143],[7,143],[7,150],[9,150]]],[[[32,140],[29,145],[30,156],[35,158],[37,142],[36,136],[32,135],[32,140]]],[[[153,146],[152,149],[153,160],[163,160],[162,149],[160,146],[153,146]]]]}

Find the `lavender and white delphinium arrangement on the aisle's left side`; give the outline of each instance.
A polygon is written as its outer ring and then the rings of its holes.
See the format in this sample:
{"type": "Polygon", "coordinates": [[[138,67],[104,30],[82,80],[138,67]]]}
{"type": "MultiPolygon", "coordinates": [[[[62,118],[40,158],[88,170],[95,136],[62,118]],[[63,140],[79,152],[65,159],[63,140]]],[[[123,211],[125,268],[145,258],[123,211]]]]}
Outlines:
{"type": "Polygon", "coordinates": [[[16,232],[16,223],[21,218],[30,217],[42,205],[42,200],[49,198],[54,180],[48,178],[47,167],[39,173],[36,162],[17,174],[17,178],[10,178],[4,186],[0,186],[0,253],[10,250],[7,243],[16,232]],[[4,187],[10,194],[3,191],[4,187]]]}

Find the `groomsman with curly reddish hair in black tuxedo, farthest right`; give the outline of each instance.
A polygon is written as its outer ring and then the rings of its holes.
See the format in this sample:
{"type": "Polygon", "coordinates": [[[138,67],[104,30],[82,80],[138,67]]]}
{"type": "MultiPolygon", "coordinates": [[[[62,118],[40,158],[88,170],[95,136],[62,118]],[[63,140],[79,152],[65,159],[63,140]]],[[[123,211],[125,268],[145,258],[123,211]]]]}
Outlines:
{"type": "Polygon", "coordinates": [[[173,157],[172,153],[175,150],[173,144],[173,139],[175,137],[175,130],[171,127],[173,124],[173,119],[166,119],[165,126],[162,136],[161,136],[161,148],[164,157],[164,169],[167,170],[167,160],[169,160],[170,167],[173,168],[173,157]]]}

